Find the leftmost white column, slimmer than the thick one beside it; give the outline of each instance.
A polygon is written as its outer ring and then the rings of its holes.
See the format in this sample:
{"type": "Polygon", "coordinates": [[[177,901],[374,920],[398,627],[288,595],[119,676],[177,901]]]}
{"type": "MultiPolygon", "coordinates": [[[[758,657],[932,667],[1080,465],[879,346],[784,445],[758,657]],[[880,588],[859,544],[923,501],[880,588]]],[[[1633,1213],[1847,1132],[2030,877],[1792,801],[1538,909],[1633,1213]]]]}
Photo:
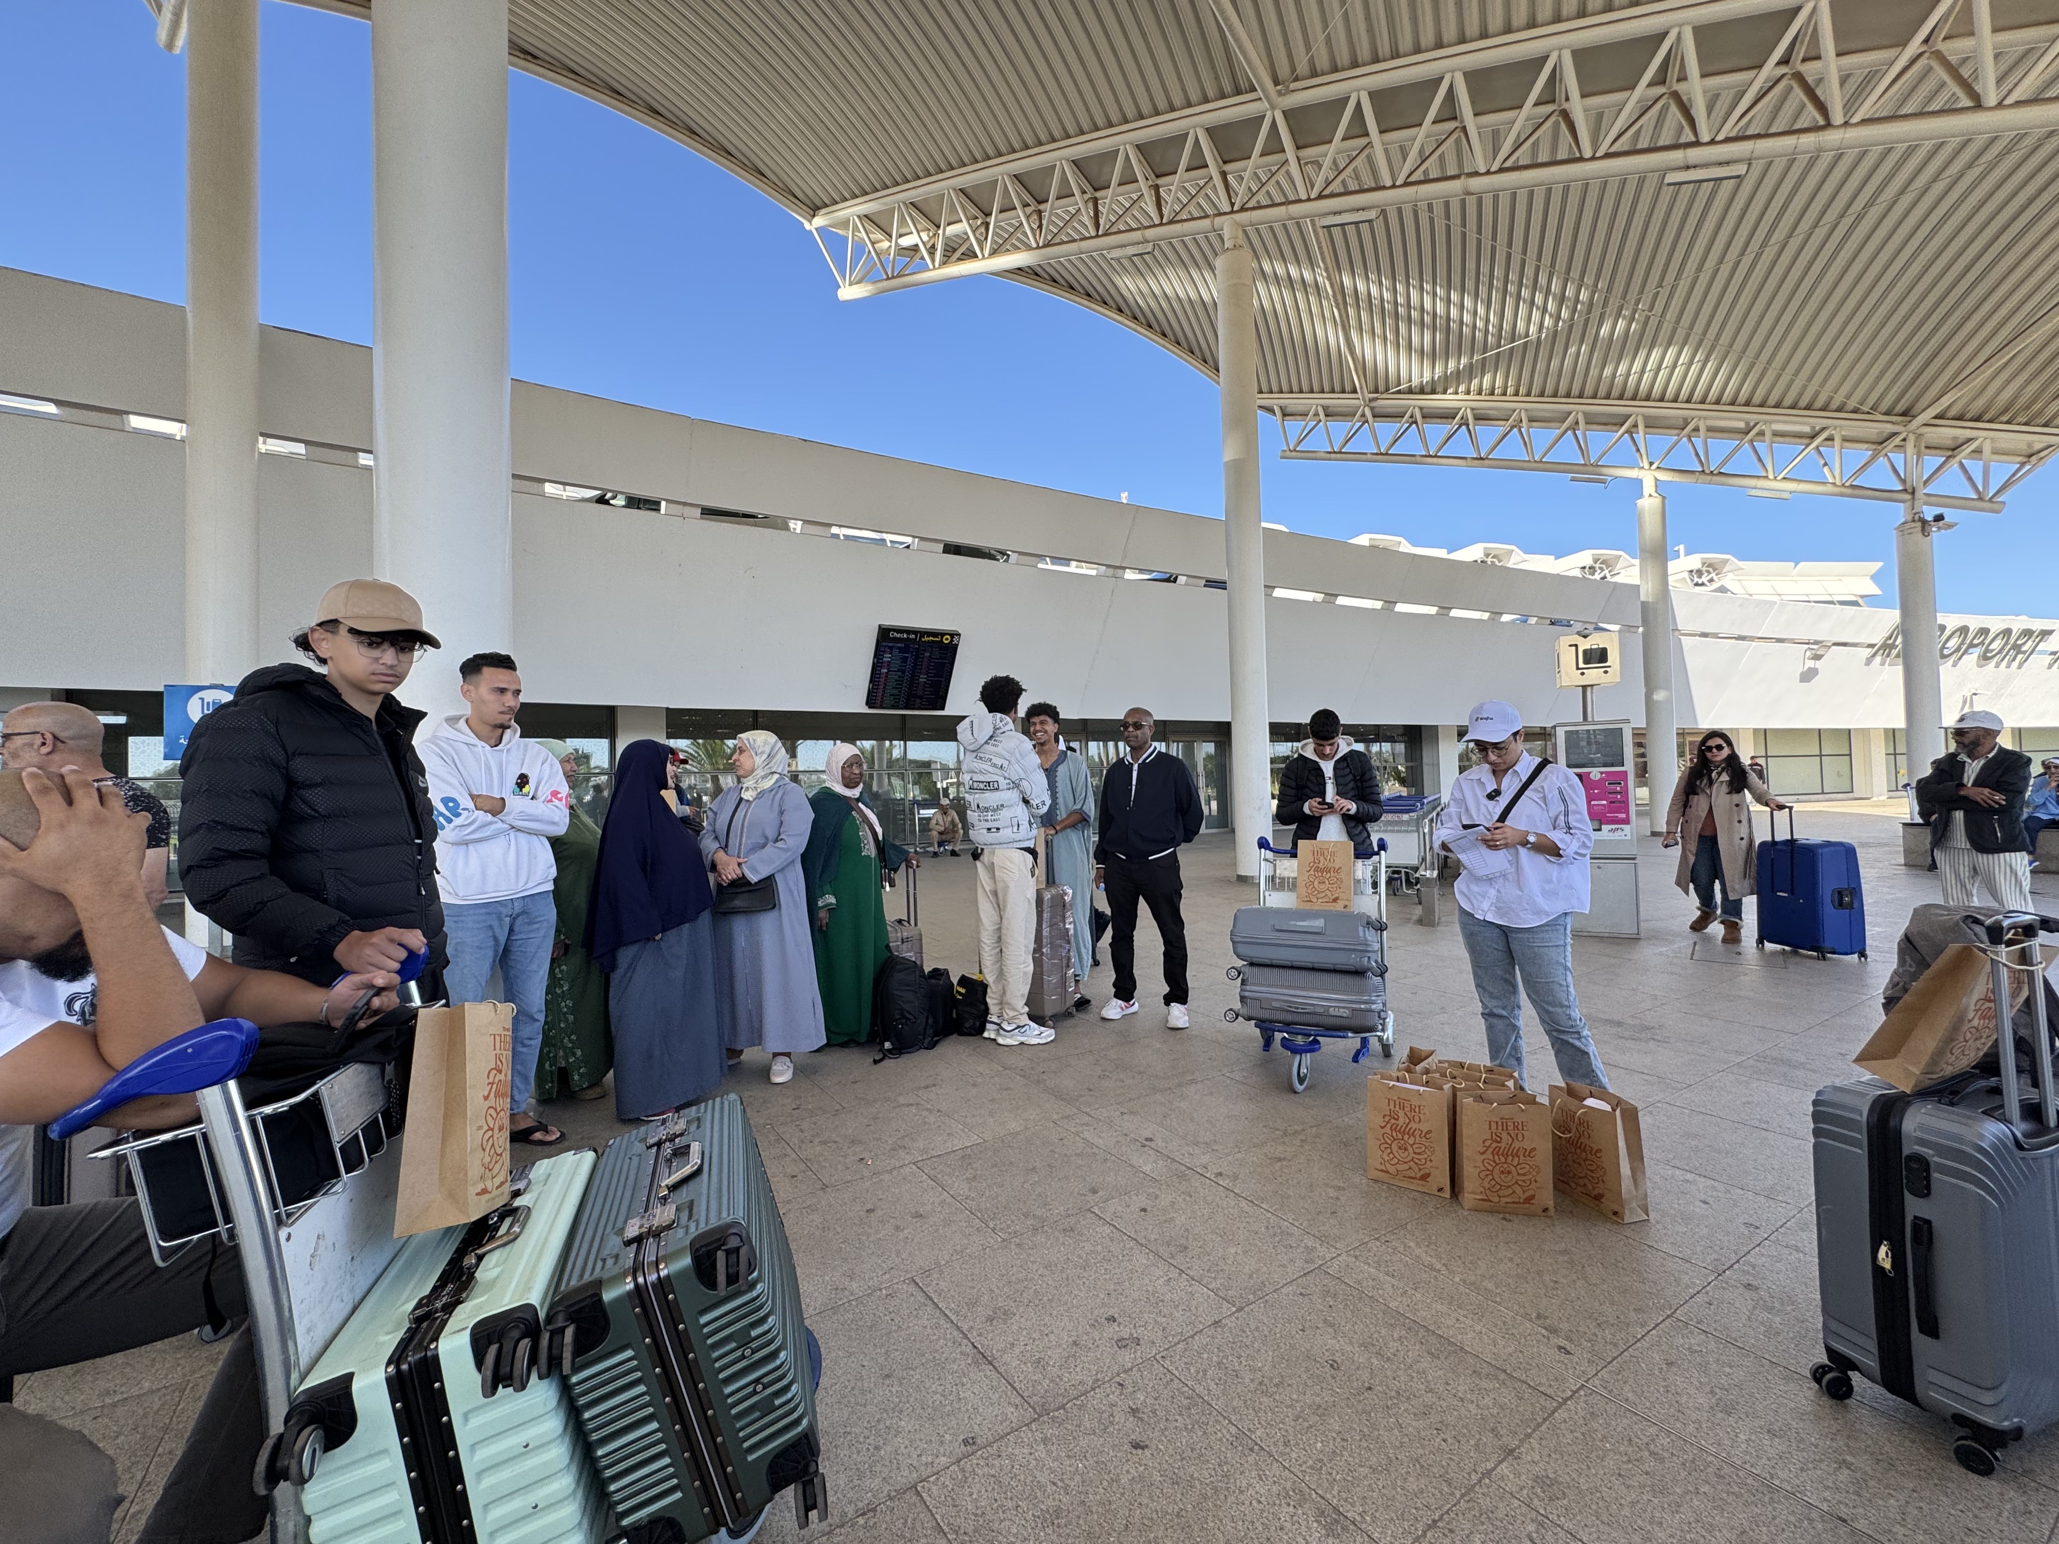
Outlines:
{"type": "Polygon", "coordinates": [[[235,686],[257,657],[257,0],[191,0],[185,679],[235,686]]]}

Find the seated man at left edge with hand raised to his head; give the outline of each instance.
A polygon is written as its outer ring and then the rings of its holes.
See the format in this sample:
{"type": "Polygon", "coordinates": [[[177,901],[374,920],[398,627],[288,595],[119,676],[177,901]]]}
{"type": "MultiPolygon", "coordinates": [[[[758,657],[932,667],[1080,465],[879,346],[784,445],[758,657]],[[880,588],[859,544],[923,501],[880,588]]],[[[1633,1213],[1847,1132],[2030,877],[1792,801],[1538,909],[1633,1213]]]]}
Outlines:
{"type": "MultiPolygon", "coordinates": [[[[31,1206],[35,1126],[84,1103],[154,1046],[210,1019],[338,1023],[393,976],[331,988],[212,959],[156,924],[142,889],[142,815],[86,772],[0,772],[0,1379],[224,1326],[245,1311],[233,1245],[150,1258],[138,1202],[31,1206]]],[[[191,1095],[136,1099],[101,1124],[165,1130],[191,1095]]],[[[109,1388],[121,1402],[136,1390],[109,1388]]],[[[134,1420],[152,1418],[136,1410],[134,1420]]],[[[226,1348],[140,1544],[241,1544],[264,1532],[251,1493],[264,1439],[249,1330],[226,1348]]],[[[103,1544],[121,1486],[86,1437],[0,1404],[0,1538],[103,1544]]]]}

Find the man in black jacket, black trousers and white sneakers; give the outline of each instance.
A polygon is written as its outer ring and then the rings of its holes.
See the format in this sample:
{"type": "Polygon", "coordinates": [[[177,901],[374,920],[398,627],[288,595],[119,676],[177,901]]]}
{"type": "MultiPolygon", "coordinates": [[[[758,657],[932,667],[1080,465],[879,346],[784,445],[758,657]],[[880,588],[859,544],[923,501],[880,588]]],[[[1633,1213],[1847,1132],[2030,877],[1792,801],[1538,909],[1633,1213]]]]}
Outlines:
{"type": "Polygon", "coordinates": [[[1165,1027],[1186,1029],[1186,920],[1180,916],[1180,848],[1200,834],[1200,791],[1186,762],[1151,743],[1145,708],[1122,714],[1124,756],[1102,774],[1093,883],[1108,891],[1108,959],[1116,968],[1104,1019],[1137,1013],[1137,902],[1151,908],[1165,945],[1165,1027]]]}

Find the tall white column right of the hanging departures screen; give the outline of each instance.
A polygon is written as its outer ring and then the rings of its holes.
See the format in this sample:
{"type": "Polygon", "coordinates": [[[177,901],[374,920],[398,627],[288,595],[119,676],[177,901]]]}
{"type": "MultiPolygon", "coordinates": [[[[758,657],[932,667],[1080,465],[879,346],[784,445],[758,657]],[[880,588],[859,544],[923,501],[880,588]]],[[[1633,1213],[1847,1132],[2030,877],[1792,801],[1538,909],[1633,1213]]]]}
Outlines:
{"type": "Polygon", "coordinates": [[[1266,560],[1258,504],[1258,319],[1252,251],[1223,235],[1215,259],[1217,366],[1223,395],[1223,543],[1229,581],[1229,811],[1237,877],[1258,877],[1258,838],[1272,834],[1272,743],[1266,706],[1266,560]]]}

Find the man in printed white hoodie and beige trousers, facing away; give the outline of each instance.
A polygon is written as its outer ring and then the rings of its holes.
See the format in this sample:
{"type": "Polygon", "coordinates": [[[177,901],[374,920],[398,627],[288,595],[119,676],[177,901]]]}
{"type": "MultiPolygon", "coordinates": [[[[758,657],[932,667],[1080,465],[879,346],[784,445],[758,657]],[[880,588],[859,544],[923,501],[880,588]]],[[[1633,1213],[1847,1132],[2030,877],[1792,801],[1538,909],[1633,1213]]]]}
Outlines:
{"type": "Polygon", "coordinates": [[[1054,1040],[1030,1021],[1030,963],[1036,945],[1036,832],[1050,784],[1036,747],[1015,729],[1023,683],[994,675],[980,688],[984,712],[957,727],[966,747],[966,840],[978,852],[980,976],[986,978],[986,1033],[1003,1046],[1054,1040]]]}

